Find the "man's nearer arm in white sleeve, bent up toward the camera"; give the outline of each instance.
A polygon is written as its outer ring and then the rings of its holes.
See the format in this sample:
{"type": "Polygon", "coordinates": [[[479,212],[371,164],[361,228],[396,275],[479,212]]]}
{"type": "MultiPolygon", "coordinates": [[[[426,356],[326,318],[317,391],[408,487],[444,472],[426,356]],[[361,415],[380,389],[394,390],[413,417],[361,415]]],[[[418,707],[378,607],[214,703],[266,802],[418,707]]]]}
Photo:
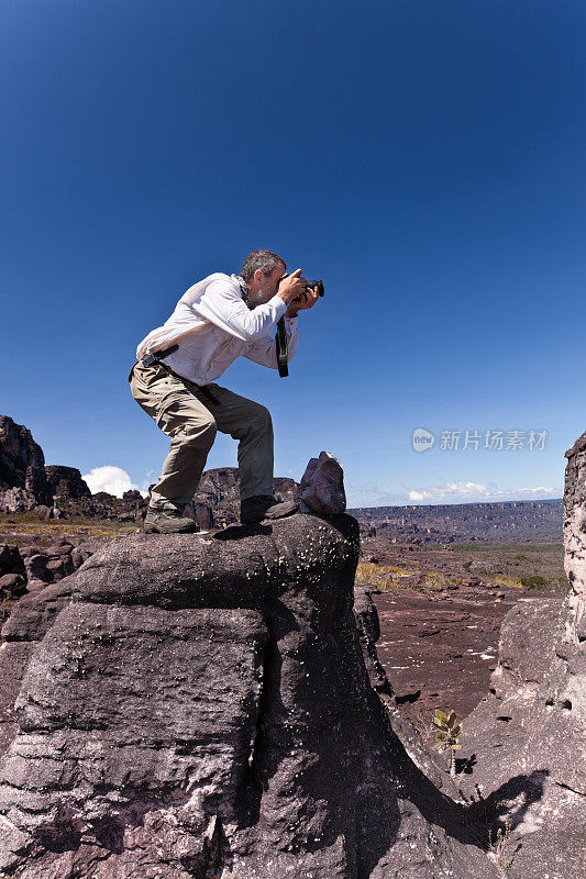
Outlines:
{"type": "Polygon", "coordinates": [[[264,305],[257,305],[251,311],[234,283],[218,280],[209,285],[192,308],[202,318],[242,342],[261,341],[268,344],[265,336],[285,314],[287,303],[280,297],[274,296],[264,305]]]}

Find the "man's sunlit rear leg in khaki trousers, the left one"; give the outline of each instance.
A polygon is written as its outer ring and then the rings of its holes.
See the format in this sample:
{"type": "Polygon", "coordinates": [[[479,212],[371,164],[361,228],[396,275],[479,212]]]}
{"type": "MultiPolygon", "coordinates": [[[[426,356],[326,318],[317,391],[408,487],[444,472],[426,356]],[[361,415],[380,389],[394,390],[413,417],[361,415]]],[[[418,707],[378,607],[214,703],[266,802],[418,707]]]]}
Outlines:
{"type": "Polygon", "coordinates": [[[156,364],[134,367],[131,391],[139,405],[172,439],[151,493],[150,509],[181,511],[196,492],[215,438],[214,418],[180,379],[156,364]]]}

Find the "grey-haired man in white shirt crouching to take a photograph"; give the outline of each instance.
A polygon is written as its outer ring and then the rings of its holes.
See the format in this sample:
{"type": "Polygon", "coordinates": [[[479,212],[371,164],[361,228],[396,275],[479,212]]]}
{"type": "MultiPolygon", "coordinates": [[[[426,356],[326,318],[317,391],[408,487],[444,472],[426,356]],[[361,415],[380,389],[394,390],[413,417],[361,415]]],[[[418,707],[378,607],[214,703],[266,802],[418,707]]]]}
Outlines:
{"type": "Polygon", "coordinates": [[[287,357],[299,344],[297,316],[312,308],[318,289],[301,269],[270,251],[254,251],[240,276],[217,272],[194,285],[170,318],[136,349],[132,396],[161,430],[170,450],[151,493],[144,530],[197,531],[183,510],[192,499],[217,431],[239,441],[241,522],[280,519],[297,510],[273,497],[273,423],[268,410],[214,383],[241,355],[277,368],[272,331],[285,316],[287,357]],[[299,297],[299,301],[295,301],[299,297]]]}

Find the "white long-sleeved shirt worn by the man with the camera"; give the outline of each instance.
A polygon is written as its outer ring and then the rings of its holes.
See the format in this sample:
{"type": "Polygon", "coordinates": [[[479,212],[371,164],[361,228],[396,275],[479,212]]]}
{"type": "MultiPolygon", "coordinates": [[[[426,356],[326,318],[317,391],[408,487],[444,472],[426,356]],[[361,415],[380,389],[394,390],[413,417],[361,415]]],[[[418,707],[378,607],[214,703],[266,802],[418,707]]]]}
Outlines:
{"type": "MultiPolygon", "coordinates": [[[[287,303],[278,296],[248,309],[236,276],[215,272],[184,293],[163,326],[141,342],[136,357],[176,344],[178,349],[165,363],[197,385],[215,381],[240,356],[276,369],[275,340],[269,333],[286,311],[287,303]]],[[[299,345],[297,324],[297,318],[285,318],[288,360],[299,345]]]]}

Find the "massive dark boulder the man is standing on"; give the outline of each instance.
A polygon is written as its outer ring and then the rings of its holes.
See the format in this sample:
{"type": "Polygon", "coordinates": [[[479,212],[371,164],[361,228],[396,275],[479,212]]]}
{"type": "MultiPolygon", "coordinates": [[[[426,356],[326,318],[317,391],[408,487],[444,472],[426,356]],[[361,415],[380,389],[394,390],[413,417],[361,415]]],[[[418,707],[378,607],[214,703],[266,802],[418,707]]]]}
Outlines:
{"type": "Polygon", "coordinates": [[[4,875],[495,877],[394,728],[357,557],[346,515],[135,534],[21,600],[4,875]]]}

